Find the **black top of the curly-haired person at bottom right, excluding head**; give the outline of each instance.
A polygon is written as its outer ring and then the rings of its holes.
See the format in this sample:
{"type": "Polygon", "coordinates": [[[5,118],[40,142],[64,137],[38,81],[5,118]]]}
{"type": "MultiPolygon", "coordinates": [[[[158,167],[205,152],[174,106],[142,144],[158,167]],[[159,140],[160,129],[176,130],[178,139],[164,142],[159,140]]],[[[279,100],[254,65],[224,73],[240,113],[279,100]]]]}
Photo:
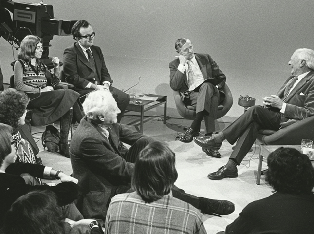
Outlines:
{"type": "Polygon", "coordinates": [[[275,193],[248,204],[226,234],[312,234],[314,195],[275,193]]]}

